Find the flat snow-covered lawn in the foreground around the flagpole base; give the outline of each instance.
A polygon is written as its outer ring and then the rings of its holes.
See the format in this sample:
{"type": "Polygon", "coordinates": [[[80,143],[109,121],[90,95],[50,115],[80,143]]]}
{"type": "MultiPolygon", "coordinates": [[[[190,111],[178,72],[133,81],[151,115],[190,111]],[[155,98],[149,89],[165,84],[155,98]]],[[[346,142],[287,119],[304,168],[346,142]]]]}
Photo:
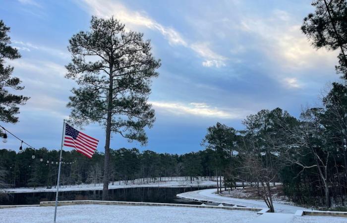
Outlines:
{"type": "MultiPolygon", "coordinates": [[[[126,222],[126,223],[250,223],[255,212],[205,208],[74,205],[59,206],[57,223],[126,222]]],[[[54,207],[0,209],[0,222],[53,222],[54,207]]]]}

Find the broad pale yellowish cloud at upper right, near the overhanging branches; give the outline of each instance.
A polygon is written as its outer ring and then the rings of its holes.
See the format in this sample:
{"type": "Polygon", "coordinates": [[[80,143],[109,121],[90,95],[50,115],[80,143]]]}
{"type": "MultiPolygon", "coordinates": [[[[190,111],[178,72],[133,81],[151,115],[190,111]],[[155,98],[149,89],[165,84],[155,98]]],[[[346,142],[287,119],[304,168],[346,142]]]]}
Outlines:
{"type": "MultiPolygon", "coordinates": [[[[301,33],[301,23],[296,21],[297,19],[286,11],[275,9],[272,16],[267,18],[254,16],[242,19],[239,29],[261,38],[265,53],[286,68],[302,69],[314,67],[321,62],[326,63],[327,56],[331,53],[316,51],[301,33]]],[[[331,59],[329,62],[332,61],[331,59]]]]}

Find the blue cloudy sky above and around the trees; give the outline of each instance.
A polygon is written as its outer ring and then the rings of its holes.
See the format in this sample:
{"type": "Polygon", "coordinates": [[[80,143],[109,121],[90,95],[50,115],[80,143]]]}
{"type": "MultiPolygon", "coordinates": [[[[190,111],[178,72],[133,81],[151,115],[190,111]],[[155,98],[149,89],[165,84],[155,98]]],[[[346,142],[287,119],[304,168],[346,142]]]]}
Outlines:
{"type": "MultiPolygon", "coordinates": [[[[0,0],[0,19],[11,28],[11,46],[22,55],[7,60],[30,100],[19,122],[2,123],[35,148],[59,149],[62,121],[75,82],[64,78],[71,60],[68,40],[88,31],[92,15],[115,16],[126,29],[150,39],[160,58],[149,102],[156,121],[141,146],[113,135],[111,148],[160,153],[199,151],[206,129],[217,122],[242,129],[242,120],[277,107],[298,116],[319,104],[329,83],[338,80],[338,52],[316,50],[301,33],[314,8],[303,0],[0,0]]],[[[19,93],[19,92],[18,92],[19,93]]],[[[100,140],[98,124],[83,127],[100,140]]],[[[9,136],[1,148],[18,151],[9,136]]],[[[66,150],[69,150],[66,148],[66,150]]]]}

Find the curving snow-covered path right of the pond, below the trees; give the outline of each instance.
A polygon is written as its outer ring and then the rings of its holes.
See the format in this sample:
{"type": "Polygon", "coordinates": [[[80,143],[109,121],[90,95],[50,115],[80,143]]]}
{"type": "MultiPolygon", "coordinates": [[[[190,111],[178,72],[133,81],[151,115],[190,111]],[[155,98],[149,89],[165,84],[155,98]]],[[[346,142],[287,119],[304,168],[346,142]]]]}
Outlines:
{"type": "MultiPolygon", "coordinates": [[[[244,206],[249,208],[267,208],[265,202],[263,201],[223,197],[223,196],[215,194],[216,191],[217,189],[196,190],[196,191],[190,191],[190,192],[186,192],[182,194],[177,194],[177,197],[189,199],[189,200],[195,200],[195,201],[239,205],[239,206],[244,206]]],[[[287,214],[294,214],[296,210],[306,210],[305,208],[302,208],[302,207],[280,204],[277,202],[274,202],[274,207],[275,207],[275,212],[287,213],[287,214]]]]}

